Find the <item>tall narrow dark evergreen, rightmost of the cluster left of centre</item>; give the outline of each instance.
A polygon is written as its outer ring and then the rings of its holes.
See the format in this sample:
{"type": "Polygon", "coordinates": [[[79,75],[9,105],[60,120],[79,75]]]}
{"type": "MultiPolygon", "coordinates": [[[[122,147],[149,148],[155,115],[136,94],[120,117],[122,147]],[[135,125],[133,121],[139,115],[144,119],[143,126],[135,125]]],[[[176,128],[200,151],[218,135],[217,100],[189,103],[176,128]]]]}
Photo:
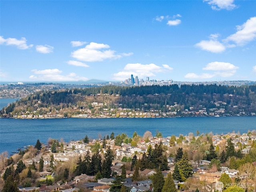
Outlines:
{"type": "Polygon", "coordinates": [[[106,154],[104,155],[104,161],[102,163],[102,176],[104,178],[110,178],[111,175],[111,166],[114,160],[114,154],[110,147],[108,147],[106,154]]]}

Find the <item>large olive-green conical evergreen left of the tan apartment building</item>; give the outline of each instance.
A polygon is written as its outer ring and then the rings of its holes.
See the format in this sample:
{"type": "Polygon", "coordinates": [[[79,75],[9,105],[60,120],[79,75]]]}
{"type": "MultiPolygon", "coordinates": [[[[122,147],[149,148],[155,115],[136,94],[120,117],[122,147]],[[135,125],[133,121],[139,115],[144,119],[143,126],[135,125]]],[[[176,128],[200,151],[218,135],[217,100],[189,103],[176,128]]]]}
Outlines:
{"type": "MultiPolygon", "coordinates": [[[[189,178],[192,176],[192,170],[193,167],[188,161],[188,153],[184,152],[182,155],[182,159],[178,162],[178,167],[180,169],[181,176],[184,176],[184,178],[189,178]]],[[[184,180],[184,178],[182,178],[184,180]]]]}

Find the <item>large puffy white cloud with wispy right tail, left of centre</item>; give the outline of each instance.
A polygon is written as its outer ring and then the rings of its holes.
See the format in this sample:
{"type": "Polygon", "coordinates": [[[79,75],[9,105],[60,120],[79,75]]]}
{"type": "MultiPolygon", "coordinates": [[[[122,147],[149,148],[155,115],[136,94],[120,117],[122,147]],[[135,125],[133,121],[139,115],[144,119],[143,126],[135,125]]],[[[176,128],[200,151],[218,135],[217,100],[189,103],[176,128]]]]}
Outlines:
{"type": "Polygon", "coordinates": [[[99,44],[91,42],[89,45],[85,46],[85,48],[81,48],[75,50],[71,53],[73,58],[77,60],[86,61],[86,62],[96,62],[96,61],[103,61],[105,59],[117,59],[121,58],[122,56],[130,56],[132,53],[122,53],[122,54],[115,54],[116,51],[114,50],[101,50],[110,48],[107,44],[99,44]]]}

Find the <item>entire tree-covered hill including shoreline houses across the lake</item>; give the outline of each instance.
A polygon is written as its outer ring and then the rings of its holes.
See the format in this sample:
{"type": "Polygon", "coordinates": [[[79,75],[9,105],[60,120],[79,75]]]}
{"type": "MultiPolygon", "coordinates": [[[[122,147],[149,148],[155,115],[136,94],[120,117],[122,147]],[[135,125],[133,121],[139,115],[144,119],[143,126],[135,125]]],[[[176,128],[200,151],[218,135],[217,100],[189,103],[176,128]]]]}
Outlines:
{"type": "Polygon", "coordinates": [[[255,115],[256,85],[102,86],[39,91],[2,117],[165,117],[255,115]]]}

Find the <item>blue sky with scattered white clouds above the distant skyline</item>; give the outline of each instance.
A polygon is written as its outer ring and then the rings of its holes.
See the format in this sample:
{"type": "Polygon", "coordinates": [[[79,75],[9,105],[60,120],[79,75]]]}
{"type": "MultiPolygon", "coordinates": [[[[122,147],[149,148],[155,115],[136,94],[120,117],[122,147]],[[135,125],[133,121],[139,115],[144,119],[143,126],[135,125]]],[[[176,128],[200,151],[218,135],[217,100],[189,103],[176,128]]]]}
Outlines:
{"type": "Polygon", "coordinates": [[[255,0],[0,2],[0,81],[256,81],[255,0]]]}

